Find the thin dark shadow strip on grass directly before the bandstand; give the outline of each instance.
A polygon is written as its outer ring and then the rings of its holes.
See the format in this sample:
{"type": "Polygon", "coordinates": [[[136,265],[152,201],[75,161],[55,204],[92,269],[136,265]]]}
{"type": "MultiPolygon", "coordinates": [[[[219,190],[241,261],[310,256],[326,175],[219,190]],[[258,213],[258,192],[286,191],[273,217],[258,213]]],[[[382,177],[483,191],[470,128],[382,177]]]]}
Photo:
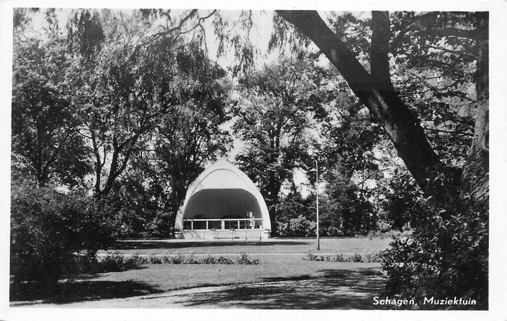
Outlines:
{"type": "Polygon", "coordinates": [[[191,247],[223,247],[223,246],[279,246],[279,245],[311,245],[305,241],[275,241],[275,242],[224,242],[224,241],[202,241],[202,242],[171,242],[171,241],[118,241],[112,249],[115,250],[143,250],[143,249],[180,249],[191,247]]]}

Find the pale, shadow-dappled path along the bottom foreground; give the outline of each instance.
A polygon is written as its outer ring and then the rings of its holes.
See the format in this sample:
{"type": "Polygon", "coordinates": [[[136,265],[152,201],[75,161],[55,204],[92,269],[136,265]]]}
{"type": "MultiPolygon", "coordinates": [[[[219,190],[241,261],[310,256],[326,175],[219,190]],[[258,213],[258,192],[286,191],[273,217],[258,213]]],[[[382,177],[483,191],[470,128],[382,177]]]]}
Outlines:
{"type": "Polygon", "coordinates": [[[206,309],[378,309],[385,279],[379,274],[353,274],[269,283],[196,287],[162,294],[25,307],[64,308],[206,308],[206,309]]]}

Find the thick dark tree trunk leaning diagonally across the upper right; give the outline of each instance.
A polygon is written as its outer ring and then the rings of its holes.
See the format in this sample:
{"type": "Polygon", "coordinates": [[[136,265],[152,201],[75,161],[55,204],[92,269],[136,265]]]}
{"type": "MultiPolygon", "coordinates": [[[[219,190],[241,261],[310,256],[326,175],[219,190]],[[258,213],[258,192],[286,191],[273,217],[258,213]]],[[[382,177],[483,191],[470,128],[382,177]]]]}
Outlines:
{"type": "MultiPolygon", "coordinates": [[[[386,66],[382,65],[382,62],[387,61],[387,56],[378,56],[378,62],[373,60],[377,78],[374,79],[316,11],[278,10],[277,13],[312,40],[338,69],[373,118],[383,126],[417,184],[429,195],[440,195],[441,186],[434,182],[444,165],[426,139],[419,120],[392,90],[390,81],[388,83],[385,81],[386,66]]],[[[385,26],[385,13],[376,14],[379,16],[377,22],[380,26],[385,26]]],[[[385,33],[376,36],[382,39],[385,38],[385,33]]],[[[375,50],[379,54],[385,52],[385,48],[382,47],[374,47],[372,50],[373,54],[375,50]]]]}

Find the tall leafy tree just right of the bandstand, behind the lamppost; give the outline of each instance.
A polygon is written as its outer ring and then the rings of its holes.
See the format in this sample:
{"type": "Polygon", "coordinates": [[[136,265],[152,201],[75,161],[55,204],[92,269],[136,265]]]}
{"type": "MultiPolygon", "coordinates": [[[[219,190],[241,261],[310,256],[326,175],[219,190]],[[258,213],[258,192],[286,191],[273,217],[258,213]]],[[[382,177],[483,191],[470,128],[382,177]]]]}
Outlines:
{"type": "Polygon", "coordinates": [[[234,131],[246,143],[236,159],[259,185],[276,231],[276,206],[292,170],[308,162],[310,127],[326,113],[332,90],[327,71],[309,56],[266,65],[241,80],[241,100],[233,109],[234,131]]]}

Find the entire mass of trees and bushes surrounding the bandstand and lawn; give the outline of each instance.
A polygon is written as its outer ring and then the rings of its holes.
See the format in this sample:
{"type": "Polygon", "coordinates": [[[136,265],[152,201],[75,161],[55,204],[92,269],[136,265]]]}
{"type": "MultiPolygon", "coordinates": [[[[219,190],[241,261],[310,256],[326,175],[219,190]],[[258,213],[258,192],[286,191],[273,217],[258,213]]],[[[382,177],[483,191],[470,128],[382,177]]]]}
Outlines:
{"type": "Polygon", "coordinates": [[[270,55],[249,11],[68,13],[14,14],[16,282],[54,283],[118,238],[170,237],[188,185],[233,155],[274,235],[315,234],[317,160],[322,236],[414,232],[386,256],[389,293],[487,294],[487,15],[330,13],[315,35],[311,12],[281,11],[270,55]]]}

